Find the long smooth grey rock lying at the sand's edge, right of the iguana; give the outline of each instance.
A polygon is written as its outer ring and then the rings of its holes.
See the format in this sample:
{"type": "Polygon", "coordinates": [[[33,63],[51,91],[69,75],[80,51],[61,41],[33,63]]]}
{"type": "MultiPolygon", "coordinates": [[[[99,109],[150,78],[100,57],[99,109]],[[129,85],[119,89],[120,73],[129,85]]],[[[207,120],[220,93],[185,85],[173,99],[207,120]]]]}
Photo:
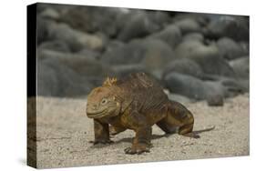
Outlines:
{"type": "Polygon", "coordinates": [[[238,80],[225,77],[216,81],[202,81],[190,75],[174,72],[166,75],[164,81],[171,93],[196,100],[208,100],[210,106],[221,105],[221,98],[243,93],[243,87],[238,80]]]}

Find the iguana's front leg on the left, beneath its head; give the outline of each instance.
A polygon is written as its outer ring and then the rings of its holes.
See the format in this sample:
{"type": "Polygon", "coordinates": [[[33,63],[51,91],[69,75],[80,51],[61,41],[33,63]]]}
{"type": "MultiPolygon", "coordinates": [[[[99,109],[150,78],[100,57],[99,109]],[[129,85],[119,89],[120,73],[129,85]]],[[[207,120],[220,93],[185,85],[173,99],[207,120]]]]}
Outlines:
{"type": "Polygon", "coordinates": [[[113,143],[113,141],[109,139],[108,124],[102,123],[97,119],[94,119],[94,136],[95,140],[91,142],[94,145],[113,143]]]}

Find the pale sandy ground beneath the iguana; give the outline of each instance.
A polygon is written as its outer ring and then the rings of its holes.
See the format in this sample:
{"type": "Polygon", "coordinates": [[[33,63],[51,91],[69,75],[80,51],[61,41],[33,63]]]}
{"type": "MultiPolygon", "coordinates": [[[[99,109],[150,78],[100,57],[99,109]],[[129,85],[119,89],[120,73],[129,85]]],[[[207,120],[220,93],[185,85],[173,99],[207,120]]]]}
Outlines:
{"type": "Polygon", "coordinates": [[[220,107],[206,102],[185,104],[195,117],[195,130],[216,126],[200,139],[171,135],[153,126],[150,153],[125,155],[132,131],[112,138],[114,144],[92,146],[93,122],[86,100],[37,98],[37,167],[92,166],[220,156],[249,155],[249,96],[226,99],[220,107]]]}

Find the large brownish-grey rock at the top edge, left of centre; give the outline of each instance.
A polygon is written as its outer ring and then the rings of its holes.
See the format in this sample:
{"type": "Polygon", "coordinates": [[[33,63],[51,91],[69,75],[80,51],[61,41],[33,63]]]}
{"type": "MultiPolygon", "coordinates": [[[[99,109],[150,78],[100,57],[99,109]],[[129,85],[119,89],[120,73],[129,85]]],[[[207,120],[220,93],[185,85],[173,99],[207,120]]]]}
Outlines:
{"type": "Polygon", "coordinates": [[[76,5],[61,15],[60,21],[83,32],[114,36],[117,34],[115,23],[118,15],[122,15],[120,8],[76,5]]]}

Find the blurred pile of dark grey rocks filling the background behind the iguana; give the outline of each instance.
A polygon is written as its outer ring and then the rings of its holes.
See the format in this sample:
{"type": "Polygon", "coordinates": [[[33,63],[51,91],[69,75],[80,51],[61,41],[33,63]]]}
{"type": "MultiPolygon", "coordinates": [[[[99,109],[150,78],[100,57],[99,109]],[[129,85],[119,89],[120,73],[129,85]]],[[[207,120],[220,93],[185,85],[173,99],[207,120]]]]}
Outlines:
{"type": "Polygon", "coordinates": [[[145,72],[178,101],[249,92],[249,17],[37,5],[38,96],[83,97],[106,76],[145,72]]]}

